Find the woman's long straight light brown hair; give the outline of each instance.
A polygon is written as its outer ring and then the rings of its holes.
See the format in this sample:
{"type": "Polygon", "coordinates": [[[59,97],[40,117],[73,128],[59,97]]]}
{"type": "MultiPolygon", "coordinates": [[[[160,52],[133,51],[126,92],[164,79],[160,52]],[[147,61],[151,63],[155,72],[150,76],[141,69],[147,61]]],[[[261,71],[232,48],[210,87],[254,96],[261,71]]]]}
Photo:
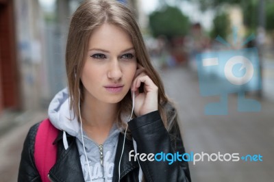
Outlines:
{"type": "MultiPolygon", "coordinates": [[[[87,53],[88,40],[92,31],[104,23],[109,23],[121,27],[134,44],[138,63],[145,68],[145,72],[153,83],[158,86],[158,109],[164,125],[167,127],[169,112],[164,107],[168,103],[164,86],[160,76],[155,71],[149,60],[149,55],[145,47],[140,29],[134,19],[134,14],[125,4],[118,1],[109,0],[88,0],[84,1],[75,11],[71,18],[69,34],[66,43],[66,74],[68,79],[69,95],[71,99],[71,109],[79,117],[78,102],[82,103],[84,94],[82,93],[82,82],[80,76],[84,66],[84,57],[87,53]],[[80,90],[80,92],[79,92],[80,90]],[[79,101],[80,94],[80,101],[79,101]]],[[[117,114],[118,123],[122,126],[121,114],[130,112],[132,101],[130,91],[120,103],[121,107],[117,114]]]]}

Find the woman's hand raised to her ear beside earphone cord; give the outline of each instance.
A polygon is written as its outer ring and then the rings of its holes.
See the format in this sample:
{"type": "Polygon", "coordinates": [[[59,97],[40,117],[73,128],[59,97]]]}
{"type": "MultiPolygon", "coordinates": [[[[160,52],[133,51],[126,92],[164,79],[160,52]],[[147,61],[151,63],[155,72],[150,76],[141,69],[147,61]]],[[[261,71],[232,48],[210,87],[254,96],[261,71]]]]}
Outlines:
{"type": "Polygon", "coordinates": [[[132,92],[135,93],[134,113],[142,116],[158,110],[158,87],[145,73],[145,68],[138,64],[136,74],[132,82],[132,92]],[[143,83],[143,84],[141,84],[143,83]],[[140,86],[144,92],[139,92],[140,86]]]}

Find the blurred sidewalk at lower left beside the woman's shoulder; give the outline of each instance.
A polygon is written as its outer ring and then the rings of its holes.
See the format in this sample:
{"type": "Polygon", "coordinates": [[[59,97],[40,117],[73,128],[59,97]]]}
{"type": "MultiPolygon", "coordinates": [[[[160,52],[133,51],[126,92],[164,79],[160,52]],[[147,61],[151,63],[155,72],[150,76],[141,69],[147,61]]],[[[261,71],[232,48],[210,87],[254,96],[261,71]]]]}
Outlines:
{"type": "Polygon", "coordinates": [[[15,182],[27,131],[47,117],[47,111],[4,112],[0,116],[0,181],[15,182]]]}

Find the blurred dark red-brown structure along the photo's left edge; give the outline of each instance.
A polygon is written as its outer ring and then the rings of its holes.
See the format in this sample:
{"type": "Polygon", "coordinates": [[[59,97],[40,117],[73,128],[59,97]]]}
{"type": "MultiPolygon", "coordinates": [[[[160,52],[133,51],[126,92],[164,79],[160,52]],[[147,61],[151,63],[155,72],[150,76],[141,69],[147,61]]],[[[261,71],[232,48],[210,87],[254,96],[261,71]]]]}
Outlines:
{"type": "Polygon", "coordinates": [[[0,0],[0,112],[21,105],[14,18],[14,1],[0,0]]]}

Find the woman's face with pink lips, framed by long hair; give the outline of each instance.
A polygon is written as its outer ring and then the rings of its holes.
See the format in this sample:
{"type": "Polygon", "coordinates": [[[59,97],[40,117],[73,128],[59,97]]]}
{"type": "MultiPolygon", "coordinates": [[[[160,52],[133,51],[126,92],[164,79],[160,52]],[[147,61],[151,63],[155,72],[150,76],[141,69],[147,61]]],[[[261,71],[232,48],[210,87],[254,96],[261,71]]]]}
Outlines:
{"type": "Polygon", "coordinates": [[[136,54],[129,35],[115,25],[101,25],[88,40],[81,76],[85,99],[118,103],[129,91],[136,68],[136,54]]]}

